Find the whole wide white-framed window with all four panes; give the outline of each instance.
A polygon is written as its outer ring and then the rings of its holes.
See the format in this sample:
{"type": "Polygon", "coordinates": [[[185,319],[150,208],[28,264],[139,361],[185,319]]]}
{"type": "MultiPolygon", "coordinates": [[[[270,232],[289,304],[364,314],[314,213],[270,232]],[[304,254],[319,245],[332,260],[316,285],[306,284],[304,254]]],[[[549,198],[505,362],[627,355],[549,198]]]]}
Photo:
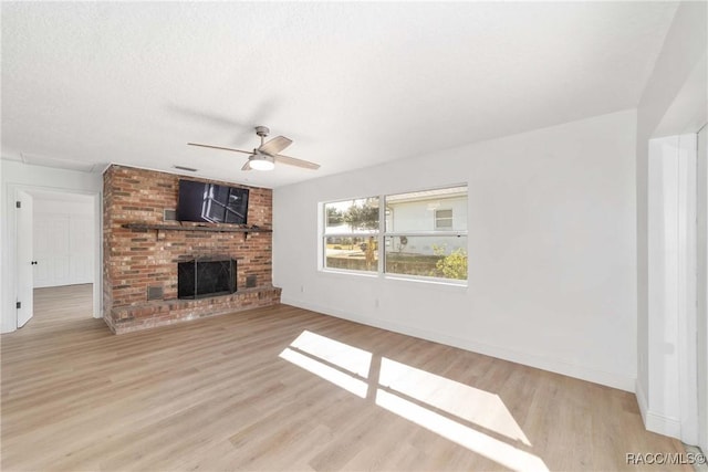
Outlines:
{"type": "Polygon", "coordinates": [[[467,186],[324,203],[323,239],[325,269],[466,281],[467,186]]]}

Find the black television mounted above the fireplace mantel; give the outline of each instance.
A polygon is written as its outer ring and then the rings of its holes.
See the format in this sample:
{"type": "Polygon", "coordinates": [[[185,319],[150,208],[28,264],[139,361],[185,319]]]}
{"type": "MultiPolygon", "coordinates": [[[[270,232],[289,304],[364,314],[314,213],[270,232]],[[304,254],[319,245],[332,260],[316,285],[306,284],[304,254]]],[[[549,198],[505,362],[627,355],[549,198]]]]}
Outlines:
{"type": "Polygon", "coordinates": [[[179,221],[246,224],[247,216],[248,189],[179,180],[179,221]]]}

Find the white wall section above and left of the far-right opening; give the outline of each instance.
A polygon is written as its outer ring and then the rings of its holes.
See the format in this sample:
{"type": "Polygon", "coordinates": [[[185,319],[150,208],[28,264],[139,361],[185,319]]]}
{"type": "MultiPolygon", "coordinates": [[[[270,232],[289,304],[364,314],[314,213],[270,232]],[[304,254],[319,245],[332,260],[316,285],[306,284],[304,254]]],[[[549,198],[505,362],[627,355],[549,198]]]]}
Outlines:
{"type": "MultiPolygon", "coordinates": [[[[708,9],[706,2],[681,2],[676,11],[674,22],[667,33],[662,52],[657,57],[654,71],[645,86],[637,107],[636,135],[636,182],[637,182],[637,399],[642,413],[646,420],[646,412],[654,399],[652,391],[670,388],[663,379],[660,364],[652,365],[650,358],[662,358],[662,344],[652,344],[650,329],[660,329],[657,325],[650,328],[649,318],[649,248],[648,248],[648,158],[649,139],[657,137],[657,129],[663,135],[681,134],[689,129],[675,129],[667,125],[667,114],[675,115],[674,104],[680,102],[688,108],[694,107],[698,113],[684,108],[687,116],[705,118],[705,86],[687,87],[693,83],[696,73],[702,74],[705,85],[705,70],[708,44],[707,24],[708,9]],[[699,67],[699,69],[697,69],[699,67]],[[698,72],[697,72],[698,71],[698,72]],[[684,96],[688,93],[691,96],[684,96]],[[700,108],[704,109],[700,109],[700,108]],[[659,125],[662,125],[659,129],[659,125]],[[655,385],[652,385],[655,384],[655,385]]],[[[678,123],[670,119],[669,122],[678,123]]],[[[694,129],[697,132],[698,129],[694,129]]],[[[657,431],[670,433],[668,430],[657,431]]]]}

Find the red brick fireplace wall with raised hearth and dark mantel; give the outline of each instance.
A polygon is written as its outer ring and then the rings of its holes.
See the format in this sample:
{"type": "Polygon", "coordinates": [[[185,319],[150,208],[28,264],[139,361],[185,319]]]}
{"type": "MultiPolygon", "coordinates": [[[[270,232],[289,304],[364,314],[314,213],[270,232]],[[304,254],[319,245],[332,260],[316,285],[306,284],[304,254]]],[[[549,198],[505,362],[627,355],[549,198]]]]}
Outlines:
{"type": "Polygon", "coordinates": [[[179,178],[123,166],[104,174],[103,308],[116,334],[280,303],[271,279],[272,190],[241,186],[250,190],[246,228],[180,223],[165,218],[177,207],[179,178]],[[179,264],[217,260],[233,261],[236,292],[179,298],[179,264]]]}

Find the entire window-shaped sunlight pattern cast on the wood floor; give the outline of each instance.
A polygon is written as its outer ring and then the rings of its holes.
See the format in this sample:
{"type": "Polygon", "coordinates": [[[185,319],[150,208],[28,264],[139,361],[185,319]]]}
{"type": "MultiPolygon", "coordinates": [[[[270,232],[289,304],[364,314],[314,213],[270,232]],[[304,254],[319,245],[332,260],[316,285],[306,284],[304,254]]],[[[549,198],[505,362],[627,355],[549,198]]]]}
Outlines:
{"type": "Polygon", "coordinates": [[[372,353],[309,331],[280,358],[360,398],[367,398],[371,388],[376,406],[509,469],[548,471],[541,458],[517,447],[531,442],[498,395],[386,357],[376,359],[381,360],[376,368],[372,353]]]}

